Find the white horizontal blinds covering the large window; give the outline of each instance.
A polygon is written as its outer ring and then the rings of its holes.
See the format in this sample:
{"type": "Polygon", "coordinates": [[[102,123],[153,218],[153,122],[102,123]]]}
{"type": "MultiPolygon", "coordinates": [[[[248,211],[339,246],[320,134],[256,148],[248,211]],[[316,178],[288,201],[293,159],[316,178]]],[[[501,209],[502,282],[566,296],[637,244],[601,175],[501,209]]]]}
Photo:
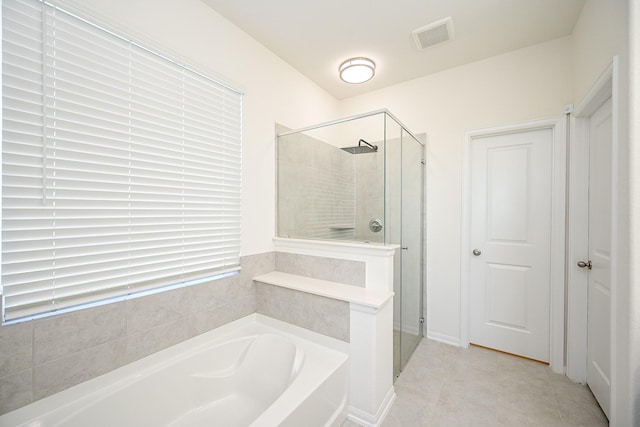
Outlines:
{"type": "Polygon", "coordinates": [[[4,320],[239,268],[242,95],[2,1],[4,320]]]}

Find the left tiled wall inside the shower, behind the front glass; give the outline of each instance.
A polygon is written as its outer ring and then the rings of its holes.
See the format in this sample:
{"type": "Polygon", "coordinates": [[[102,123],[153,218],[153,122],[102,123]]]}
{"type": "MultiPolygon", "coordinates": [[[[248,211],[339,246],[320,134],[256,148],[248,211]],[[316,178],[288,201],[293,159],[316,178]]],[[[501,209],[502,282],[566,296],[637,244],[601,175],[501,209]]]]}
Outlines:
{"type": "Polygon", "coordinates": [[[304,134],[278,139],[278,234],[355,239],[354,156],[304,134]]]}

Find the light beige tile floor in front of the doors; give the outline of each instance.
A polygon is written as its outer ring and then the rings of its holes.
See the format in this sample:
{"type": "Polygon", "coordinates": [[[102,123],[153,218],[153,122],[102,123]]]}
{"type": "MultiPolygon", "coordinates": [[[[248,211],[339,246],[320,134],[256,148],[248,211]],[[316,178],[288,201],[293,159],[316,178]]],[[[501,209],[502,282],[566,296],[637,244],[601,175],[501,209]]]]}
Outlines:
{"type": "Polygon", "coordinates": [[[383,427],[608,425],[586,386],[541,363],[479,347],[423,339],[395,390],[383,427]]]}

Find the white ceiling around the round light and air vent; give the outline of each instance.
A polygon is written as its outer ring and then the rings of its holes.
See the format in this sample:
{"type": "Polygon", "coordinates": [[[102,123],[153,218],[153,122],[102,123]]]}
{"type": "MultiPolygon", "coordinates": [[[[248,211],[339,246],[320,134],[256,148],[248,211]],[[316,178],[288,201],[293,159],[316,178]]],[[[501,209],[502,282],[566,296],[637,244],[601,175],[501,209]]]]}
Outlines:
{"type": "Polygon", "coordinates": [[[571,34],[585,0],[202,0],[339,99],[571,34]],[[451,41],[419,50],[411,31],[446,17],[451,41]],[[376,62],[369,82],[338,77],[376,62]]]}

